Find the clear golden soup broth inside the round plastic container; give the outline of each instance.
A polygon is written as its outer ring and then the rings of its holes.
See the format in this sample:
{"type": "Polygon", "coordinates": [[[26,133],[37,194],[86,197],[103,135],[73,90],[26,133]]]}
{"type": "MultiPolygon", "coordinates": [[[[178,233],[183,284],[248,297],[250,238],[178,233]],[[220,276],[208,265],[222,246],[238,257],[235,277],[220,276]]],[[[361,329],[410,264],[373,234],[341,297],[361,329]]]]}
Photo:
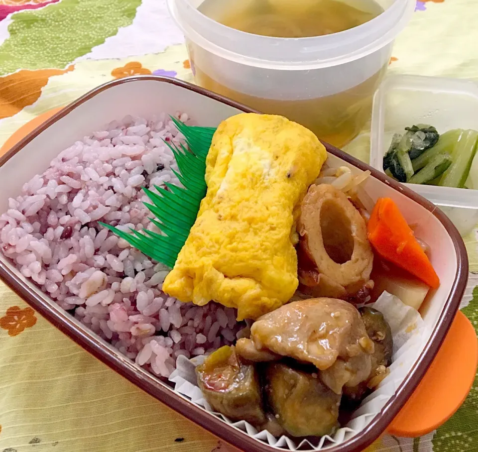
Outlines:
{"type": "MultiPolygon", "coordinates": [[[[263,36],[301,38],[341,32],[371,20],[383,9],[373,0],[205,0],[199,10],[240,31],[263,36]]],[[[371,100],[386,63],[359,85],[329,96],[301,99],[260,97],[242,93],[218,81],[215,69],[195,59],[188,43],[196,83],[264,113],[281,114],[311,129],[337,147],[349,143],[370,117],[371,100]]],[[[253,81],[251,83],[254,83],[253,81]]]]}

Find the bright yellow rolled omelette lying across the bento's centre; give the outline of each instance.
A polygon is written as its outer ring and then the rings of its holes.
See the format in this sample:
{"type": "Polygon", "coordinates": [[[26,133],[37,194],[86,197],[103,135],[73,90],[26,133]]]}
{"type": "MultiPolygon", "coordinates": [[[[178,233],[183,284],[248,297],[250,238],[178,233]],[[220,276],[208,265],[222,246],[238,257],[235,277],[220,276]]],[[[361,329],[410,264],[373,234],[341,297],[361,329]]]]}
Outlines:
{"type": "Polygon", "coordinates": [[[282,116],[222,122],[206,161],[206,197],[162,289],[237,308],[239,320],[288,302],[298,286],[298,207],[326,157],[310,130],[282,116]]]}

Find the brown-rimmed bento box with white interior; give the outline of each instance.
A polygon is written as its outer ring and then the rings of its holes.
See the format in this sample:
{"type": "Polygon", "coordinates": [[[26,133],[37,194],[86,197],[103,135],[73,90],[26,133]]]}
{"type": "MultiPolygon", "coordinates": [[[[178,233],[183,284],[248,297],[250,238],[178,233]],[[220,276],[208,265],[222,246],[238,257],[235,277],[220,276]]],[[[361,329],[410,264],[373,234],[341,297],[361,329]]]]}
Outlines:
{"type": "MultiPolygon", "coordinates": [[[[174,79],[141,76],[107,83],[55,114],[0,158],[0,212],[11,209],[8,199],[15,198],[25,182],[45,171],[60,151],[77,140],[91,135],[93,131],[103,130],[105,124],[124,116],[151,117],[158,112],[187,112],[195,125],[208,127],[216,127],[224,119],[241,112],[256,113],[226,98],[174,79]]],[[[99,139],[102,139],[101,136],[99,139]]],[[[102,339],[84,322],[71,316],[64,306],[61,307],[47,293],[43,293],[38,285],[25,277],[1,253],[0,277],[53,325],[113,370],[241,450],[360,451],[385,431],[438,352],[465,291],[468,258],[458,230],[436,206],[339,149],[327,144],[325,146],[329,166],[348,167],[357,175],[370,171],[371,177],[363,182],[367,197],[372,202],[379,197],[388,197],[396,203],[407,223],[414,225],[416,236],[428,244],[430,261],[441,282],[438,289],[429,293],[420,309],[423,318],[420,341],[402,350],[393,370],[393,378],[384,380],[383,387],[379,386],[365,399],[352,414],[347,426],[340,429],[340,438],[328,438],[318,444],[274,440],[271,435],[261,436],[248,426],[231,423],[212,413],[204,404],[191,400],[187,391],[178,389],[174,382],[148,372],[140,365],[141,359],[128,357],[126,348],[118,349],[102,339]]],[[[98,174],[96,176],[100,177],[98,174]]],[[[51,221],[54,222],[54,219],[51,221]]],[[[65,268],[68,265],[71,263],[65,261],[65,268]]],[[[53,287],[54,290],[56,288],[53,287]]]]}

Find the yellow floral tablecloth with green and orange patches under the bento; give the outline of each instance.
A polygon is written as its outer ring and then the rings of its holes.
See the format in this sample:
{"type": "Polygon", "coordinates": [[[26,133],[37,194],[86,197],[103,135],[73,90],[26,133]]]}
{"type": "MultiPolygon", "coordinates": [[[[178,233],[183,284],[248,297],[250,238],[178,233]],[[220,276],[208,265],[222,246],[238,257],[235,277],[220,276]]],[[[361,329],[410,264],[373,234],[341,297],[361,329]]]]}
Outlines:
{"type": "MultiPolygon", "coordinates": [[[[476,0],[417,1],[390,71],[478,77],[476,0]]],[[[0,0],[0,145],[22,124],[109,80],[192,81],[164,0],[0,0]]],[[[478,113],[477,113],[478,114],[478,113]]],[[[347,150],[367,159],[364,131],[347,150]]],[[[476,231],[462,302],[478,328],[476,231]]],[[[478,451],[478,380],[426,437],[384,436],[373,452],[478,451]]],[[[119,377],[0,282],[0,452],[231,452],[235,449],[119,377]]]]}

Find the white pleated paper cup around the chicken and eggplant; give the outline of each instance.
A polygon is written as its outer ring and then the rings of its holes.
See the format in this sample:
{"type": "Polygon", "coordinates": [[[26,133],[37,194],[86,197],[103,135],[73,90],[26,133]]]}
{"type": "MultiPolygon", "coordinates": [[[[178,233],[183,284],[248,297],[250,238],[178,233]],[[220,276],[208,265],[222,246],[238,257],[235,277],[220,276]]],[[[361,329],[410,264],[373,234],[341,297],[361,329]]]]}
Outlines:
{"type": "Polygon", "coordinates": [[[427,327],[418,311],[406,306],[397,297],[384,292],[375,303],[369,306],[380,311],[390,325],[393,336],[390,373],[378,388],[362,401],[353,413],[351,421],[332,436],[323,436],[315,442],[287,436],[275,438],[266,430],[258,432],[245,421],[232,422],[222,414],[212,411],[197,385],[195,373],[195,367],[204,361],[205,356],[187,359],[180,355],[176,361],[176,370],[169,377],[169,381],[174,384],[176,393],[245,432],[248,436],[272,447],[290,451],[296,451],[299,448],[301,451],[320,451],[341,444],[363,430],[395,394],[421,353],[422,339],[427,336],[427,327]]]}

